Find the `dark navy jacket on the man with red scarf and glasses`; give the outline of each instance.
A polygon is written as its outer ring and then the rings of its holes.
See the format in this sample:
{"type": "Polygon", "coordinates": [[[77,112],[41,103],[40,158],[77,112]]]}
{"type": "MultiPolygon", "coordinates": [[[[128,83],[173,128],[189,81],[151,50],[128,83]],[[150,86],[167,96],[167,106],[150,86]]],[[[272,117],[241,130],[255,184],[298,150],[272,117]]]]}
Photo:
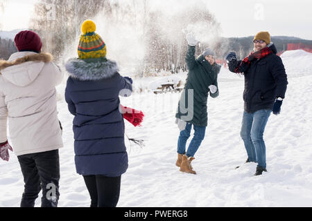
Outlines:
{"type": "MultiPolygon", "coordinates": [[[[276,55],[274,44],[268,45],[272,54],[256,59],[245,70],[245,90],[243,93],[244,109],[247,113],[267,109],[272,110],[277,97],[284,99],[287,89],[287,75],[281,58],[276,55]]],[[[241,61],[229,62],[229,70],[235,69],[241,61]]]]}

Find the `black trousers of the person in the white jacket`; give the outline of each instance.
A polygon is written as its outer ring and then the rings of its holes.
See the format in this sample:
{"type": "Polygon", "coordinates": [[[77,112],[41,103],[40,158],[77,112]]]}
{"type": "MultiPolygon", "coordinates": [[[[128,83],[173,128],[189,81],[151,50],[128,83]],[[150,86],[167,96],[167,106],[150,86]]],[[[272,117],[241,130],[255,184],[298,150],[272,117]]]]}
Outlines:
{"type": "Polygon", "coordinates": [[[35,200],[42,190],[42,207],[57,207],[60,180],[58,150],[31,153],[17,157],[24,176],[25,189],[21,207],[35,206],[35,200]]]}

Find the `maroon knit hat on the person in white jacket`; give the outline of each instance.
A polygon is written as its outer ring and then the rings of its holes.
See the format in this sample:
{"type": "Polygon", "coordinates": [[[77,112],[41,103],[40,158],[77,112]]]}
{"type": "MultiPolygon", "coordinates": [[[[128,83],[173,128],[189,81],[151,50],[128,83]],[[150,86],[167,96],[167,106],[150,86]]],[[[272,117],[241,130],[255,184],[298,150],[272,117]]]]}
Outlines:
{"type": "Polygon", "coordinates": [[[17,47],[17,50],[34,50],[36,52],[40,52],[42,48],[42,42],[37,35],[37,33],[31,31],[31,30],[24,30],[19,32],[15,36],[15,46],[17,47]]]}

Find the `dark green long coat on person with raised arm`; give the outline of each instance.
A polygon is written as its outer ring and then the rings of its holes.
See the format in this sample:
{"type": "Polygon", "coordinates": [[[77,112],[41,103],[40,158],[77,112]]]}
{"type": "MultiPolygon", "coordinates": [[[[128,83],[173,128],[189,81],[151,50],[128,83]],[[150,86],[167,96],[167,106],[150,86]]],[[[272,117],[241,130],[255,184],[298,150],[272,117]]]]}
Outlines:
{"type": "Polygon", "coordinates": [[[213,84],[218,88],[217,80],[221,66],[216,63],[211,66],[202,55],[200,55],[198,59],[195,59],[195,50],[195,46],[189,46],[187,58],[185,59],[185,61],[187,61],[187,67],[189,68],[189,74],[175,117],[196,126],[207,126],[208,93],[213,98],[219,95],[219,90],[212,94],[208,87],[213,84]],[[193,89],[193,99],[191,99],[192,90],[189,89],[193,89]]]}

